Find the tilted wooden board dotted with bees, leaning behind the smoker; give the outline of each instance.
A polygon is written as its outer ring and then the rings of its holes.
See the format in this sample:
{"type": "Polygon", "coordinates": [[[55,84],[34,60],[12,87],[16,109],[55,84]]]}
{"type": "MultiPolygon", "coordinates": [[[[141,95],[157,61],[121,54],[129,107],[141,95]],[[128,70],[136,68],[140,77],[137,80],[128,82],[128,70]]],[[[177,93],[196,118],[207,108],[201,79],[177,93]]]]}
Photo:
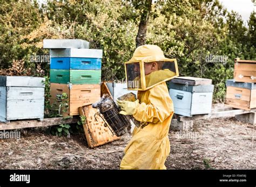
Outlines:
{"type": "Polygon", "coordinates": [[[113,135],[109,127],[104,126],[104,121],[99,116],[96,116],[97,109],[93,109],[92,105],[79,107],[81,117],[86,117],[83,124],[84,132],[89,147],[97,147],[114,140],[119,140],[120,137],[113,135]]]}

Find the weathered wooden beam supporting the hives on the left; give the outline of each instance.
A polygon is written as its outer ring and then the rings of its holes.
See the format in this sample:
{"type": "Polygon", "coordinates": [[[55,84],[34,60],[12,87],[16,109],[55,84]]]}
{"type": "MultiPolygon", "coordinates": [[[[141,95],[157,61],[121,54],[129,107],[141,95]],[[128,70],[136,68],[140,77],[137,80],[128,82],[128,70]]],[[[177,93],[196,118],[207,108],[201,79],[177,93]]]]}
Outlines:
{"type": "Polygon", "coordinates": [[[10,121],[10,123],[0,123],[0,130],[12,130],[19,128],[29,128],[29,127],[45,127],[52,125],[61,124],[75,124],[78,121],[78,117],[73,117],[69,119],[65,118],[44,118],[42,121],[38,120],[15,120],[10,121]]]}

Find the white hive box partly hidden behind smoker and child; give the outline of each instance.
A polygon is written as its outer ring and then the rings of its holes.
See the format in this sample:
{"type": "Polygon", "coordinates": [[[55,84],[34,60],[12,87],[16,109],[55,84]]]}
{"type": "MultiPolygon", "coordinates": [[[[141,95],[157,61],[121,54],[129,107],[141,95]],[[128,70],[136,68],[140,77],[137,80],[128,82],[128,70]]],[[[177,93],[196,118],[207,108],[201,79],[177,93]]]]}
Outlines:
{"type": "Polygon", "coordinates": [[[130,92],[137,95],[136,90],[127,90],[126,83],[107,82],[106,85],[112,95],[113,100],[116,100],[118,97],[130,92]]]}

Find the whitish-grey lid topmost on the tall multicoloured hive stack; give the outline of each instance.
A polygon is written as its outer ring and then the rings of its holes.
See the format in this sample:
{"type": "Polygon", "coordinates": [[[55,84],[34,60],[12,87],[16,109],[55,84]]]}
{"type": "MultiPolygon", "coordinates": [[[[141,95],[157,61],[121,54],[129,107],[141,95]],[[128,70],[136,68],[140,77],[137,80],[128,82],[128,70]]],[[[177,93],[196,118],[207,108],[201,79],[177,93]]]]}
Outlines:
{"type": "Polygon", "coordinates": [[[89,48],[89,42],[80,39],[44,39],[43,48],[89,48]]]}

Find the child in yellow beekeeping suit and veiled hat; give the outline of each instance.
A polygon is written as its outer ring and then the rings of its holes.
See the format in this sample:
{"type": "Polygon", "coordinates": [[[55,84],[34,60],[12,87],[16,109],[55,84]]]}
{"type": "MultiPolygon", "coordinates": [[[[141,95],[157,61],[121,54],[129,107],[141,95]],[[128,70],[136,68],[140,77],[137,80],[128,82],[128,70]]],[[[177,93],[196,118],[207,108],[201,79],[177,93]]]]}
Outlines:
{"type": "Polygon", "coordinates": [[[138,90],[137,100],[117,100],[121,114],[140,121],[125,148],[120,169],[166,169],[173,103],[166,81],[179,76],[176,59],[167,59],[156,45],[139,46],[125,62],[127,87],[138,90]]]}

